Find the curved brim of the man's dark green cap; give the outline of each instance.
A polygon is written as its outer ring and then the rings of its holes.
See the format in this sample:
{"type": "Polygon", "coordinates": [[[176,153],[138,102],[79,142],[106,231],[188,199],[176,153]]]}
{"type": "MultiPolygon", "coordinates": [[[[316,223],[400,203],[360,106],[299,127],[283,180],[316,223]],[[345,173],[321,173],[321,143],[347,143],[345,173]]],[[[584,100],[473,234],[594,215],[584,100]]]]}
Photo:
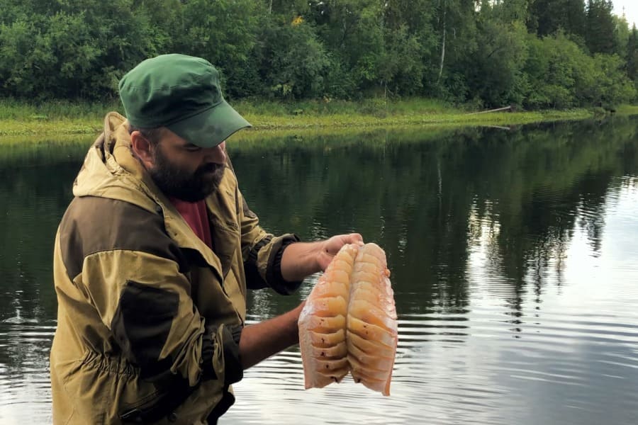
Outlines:
{"type": "Polygon", "coordinates": [[[185,120],[167,125],[184,140],[199,147],[215,147],[242,128],[252,127],[226,101],[185,120]]]}

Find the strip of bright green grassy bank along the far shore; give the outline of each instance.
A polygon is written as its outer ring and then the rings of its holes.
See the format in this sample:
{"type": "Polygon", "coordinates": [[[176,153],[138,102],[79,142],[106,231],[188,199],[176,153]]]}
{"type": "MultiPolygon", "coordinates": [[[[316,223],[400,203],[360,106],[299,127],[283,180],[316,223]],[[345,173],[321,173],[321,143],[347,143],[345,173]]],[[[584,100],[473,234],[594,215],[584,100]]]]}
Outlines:
{"type": "MultiPolygon", "coordinates": [[[[318,128],[378,128],[405,126],[476,126],[521,125],[559,120],[582,120],[605,112],[598,109],[569,111],[515,111],[477,113],[469,108],[454,108],[440,101],[410,99],[360,102],[309,101],[274,103],[237,101],[233,106],[254,125],[250,132],[303,130],[318,128]]],[[[0,142],[6,136],[28,135],[92,135],[101,131],[103,116],[108,111],[123,113],[116,103],[70,103],[52,101],[29,104],[0,101],[0,142]]],[[[622,106],[618,114],[638,114],[638,106],[622,106]]]]}

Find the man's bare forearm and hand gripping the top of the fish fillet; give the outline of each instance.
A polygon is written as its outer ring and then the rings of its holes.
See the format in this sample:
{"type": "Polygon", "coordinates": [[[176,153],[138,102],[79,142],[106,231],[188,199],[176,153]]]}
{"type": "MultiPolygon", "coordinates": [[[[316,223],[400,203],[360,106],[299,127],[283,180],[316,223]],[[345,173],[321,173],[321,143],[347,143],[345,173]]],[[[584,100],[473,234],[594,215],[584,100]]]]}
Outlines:
{"type": "Polygon", "coordinates": [[[362,245],[358,233],[338,234],[319,242],[296,242],[286,246],[281,257],[281,276],[289,282],[303,280],[318,271],[325,271],[330,261],[345,244],[362,245]]]}

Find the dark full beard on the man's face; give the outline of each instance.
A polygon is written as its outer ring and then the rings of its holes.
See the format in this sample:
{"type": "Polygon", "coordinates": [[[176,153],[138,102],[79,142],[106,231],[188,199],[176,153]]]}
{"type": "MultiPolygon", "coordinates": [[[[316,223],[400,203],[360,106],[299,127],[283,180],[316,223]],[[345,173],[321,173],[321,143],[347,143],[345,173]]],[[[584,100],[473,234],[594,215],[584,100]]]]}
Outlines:
{"type": "Polygon", "coordinates": [[[190,173],[170,162],[159,146],[153,149],[153,162],[155,166],[148,173],[159,190],[186,202],[197,202],[216,191],[225,169],[225,165],[211,162],[190,173]]]}

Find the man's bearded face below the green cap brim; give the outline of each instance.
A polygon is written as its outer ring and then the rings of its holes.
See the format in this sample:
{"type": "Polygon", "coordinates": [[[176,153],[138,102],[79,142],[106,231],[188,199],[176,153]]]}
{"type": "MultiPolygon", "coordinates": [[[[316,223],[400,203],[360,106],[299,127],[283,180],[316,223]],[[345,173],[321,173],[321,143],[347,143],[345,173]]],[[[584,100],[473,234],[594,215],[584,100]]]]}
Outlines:
{"type": "Polygon", "coordinates": [[[225,142],[216,147],[192,145],[165,131],[152,147],[153,165],[148,172],[164,195],[196,202],[219,186],[225,169],[225,142]]]}

